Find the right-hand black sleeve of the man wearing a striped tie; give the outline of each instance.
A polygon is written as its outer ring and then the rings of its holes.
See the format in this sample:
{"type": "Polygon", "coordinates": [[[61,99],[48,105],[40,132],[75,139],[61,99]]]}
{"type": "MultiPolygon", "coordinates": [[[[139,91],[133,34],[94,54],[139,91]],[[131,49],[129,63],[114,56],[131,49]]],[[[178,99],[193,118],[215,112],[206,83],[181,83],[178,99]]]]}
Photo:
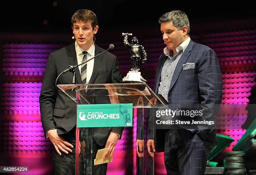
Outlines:
{"type": "MultiPolygon", "coordinates": [[[[117,58],[115,56],[113,68],[112,68],[112,74],[111,74],[111,83],[121,83],[122,82],[122,74],[118,65],[117,58]]],[[[120,135],[120,138],[122,137],[124,127],[113,127],[112,131],[116,132],[120,135]]]]}

